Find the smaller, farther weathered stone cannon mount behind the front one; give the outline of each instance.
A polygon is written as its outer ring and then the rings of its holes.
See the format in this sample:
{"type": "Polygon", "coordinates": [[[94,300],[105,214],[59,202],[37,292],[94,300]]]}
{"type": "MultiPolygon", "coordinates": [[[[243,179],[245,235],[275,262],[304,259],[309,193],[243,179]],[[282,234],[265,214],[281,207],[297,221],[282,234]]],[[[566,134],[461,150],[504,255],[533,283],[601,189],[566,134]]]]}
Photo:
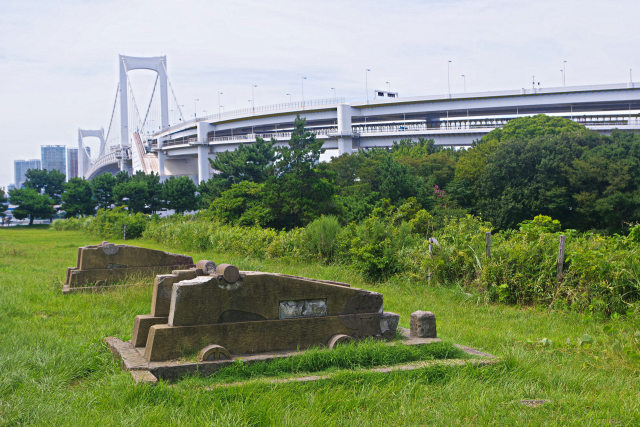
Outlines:
{"type": "Polygon", "coordinates": [[[67,268],[63,293],[95,289],[127,278],[153,277],[194,267],[190,256],[102,242],[78,248],[75,267],[67,268]]]}

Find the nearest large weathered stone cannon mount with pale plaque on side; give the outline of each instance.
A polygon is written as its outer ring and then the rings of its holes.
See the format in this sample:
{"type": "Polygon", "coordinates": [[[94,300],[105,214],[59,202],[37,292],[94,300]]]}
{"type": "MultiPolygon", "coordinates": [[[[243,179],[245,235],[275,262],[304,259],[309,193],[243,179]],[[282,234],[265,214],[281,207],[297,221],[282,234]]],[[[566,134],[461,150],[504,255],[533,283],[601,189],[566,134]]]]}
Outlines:
{"type": "MultiPolygon", "coordinates": [[[[394,337],[398,316],[382,295],[345,283],[244,271],[222,264],[156,277],[151,313],[134,322],[132,344],[147,361],[215,345],[222,357],[394,337]]],[[[211,263],[213,264],[213,263],[211,263]]],[[[207,359],[207,354],[200,358],[207,359]]]]}

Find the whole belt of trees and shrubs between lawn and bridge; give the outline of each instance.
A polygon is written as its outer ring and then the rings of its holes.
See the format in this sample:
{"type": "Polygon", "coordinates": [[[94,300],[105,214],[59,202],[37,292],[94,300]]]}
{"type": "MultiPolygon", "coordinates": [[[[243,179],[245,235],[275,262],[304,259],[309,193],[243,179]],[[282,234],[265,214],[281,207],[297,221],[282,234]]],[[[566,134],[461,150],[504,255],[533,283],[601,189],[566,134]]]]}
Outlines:
{"type": "MultiPolygon", "coordinates": [[[[606,315],[640,310],[633,237],[640,234],[639,135],[602,136],[539,115],[512,120],[467,151],[401,140],[328,163],[319,162],[321,152],[298,118],[287,146],[258,139],[220,154],[211,160],[217,173],[198,188],[187,177],[98,177],[94,199],[106,209],[54,227],[115,238],[126,226],[129,238],[187,250],[349,265],[370,281],[402,275],[460,283],[511,304],[606,315]],[[195,216],[144,215],[196,204],[195,216]],[[560,233],[568,243],[558,275],[560,233]]],[[[59,176],[48,183],[46,173],[31,175],[25,192],[59,197],[59,176]]],[[[69,194],[86,198],[80,187],[89,184],[65,185],[67,213],[84,212],[69,194]]]]}

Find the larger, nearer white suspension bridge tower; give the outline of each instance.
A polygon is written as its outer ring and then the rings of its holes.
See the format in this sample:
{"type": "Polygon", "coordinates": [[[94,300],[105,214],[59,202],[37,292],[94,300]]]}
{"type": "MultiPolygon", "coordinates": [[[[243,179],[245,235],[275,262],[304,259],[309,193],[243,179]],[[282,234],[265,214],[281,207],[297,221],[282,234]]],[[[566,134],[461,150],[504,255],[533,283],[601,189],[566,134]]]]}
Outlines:
{"type": "MultiPolygon", "coordinates": [[[[131,70],[151,70],[158,74],[160,83],[160,125],[162,129],[169,127],[169,97],[167,93],[167,57],[136,57],[120,55],[120,147],[129,149],[129,110],[127,103],[127,72],[131,70]]],[[[120,170],[131,172],[126,159],[120,160],[120,170]]],[[[158,151],[158,171],[160,178],[164,175],[164,154],[158,151]]]]}

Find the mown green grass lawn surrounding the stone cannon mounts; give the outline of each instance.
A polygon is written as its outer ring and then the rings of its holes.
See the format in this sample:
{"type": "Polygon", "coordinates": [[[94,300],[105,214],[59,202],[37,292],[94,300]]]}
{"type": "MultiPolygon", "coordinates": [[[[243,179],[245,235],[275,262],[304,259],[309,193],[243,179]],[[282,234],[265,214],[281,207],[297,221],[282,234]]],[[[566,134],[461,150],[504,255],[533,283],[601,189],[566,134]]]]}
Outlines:
{"type": "Polygon", "coordinates": [[[370,285],[335,265],[215,253],[189,255],[381,292],[401,326],[408,327],[415,310],[433,311],[440,337],[502,361],[393,373],[336,368],[330,379],[306,383],[216,388],[214,379],[190,378],[134,385],[103,338],[131,337],[134,316],[149,311],[151,288],[60,292],[77,247],[99,240],[80,232],[0,229],[0,424],[640,424],[640,319],[486,304],[456,286],[401,279],[370,285]],[[529,407],[524,399],[548,403],[529,407]]]}

